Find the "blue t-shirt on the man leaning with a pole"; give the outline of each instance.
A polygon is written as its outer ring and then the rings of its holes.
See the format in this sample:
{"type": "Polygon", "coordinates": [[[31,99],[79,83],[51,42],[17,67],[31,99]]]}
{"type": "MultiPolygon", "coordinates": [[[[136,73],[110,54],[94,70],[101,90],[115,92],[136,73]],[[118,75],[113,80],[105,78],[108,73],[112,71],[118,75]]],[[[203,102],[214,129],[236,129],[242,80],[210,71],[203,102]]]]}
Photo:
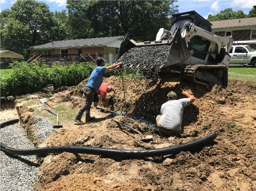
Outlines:
{"type": "Polygon", "coordinates": [[[92,87],[95,91],[99,90],[103,82],[103,73],[106,70],[106,66],[97,66],[90,75],[85,87],[92,87]]]}

